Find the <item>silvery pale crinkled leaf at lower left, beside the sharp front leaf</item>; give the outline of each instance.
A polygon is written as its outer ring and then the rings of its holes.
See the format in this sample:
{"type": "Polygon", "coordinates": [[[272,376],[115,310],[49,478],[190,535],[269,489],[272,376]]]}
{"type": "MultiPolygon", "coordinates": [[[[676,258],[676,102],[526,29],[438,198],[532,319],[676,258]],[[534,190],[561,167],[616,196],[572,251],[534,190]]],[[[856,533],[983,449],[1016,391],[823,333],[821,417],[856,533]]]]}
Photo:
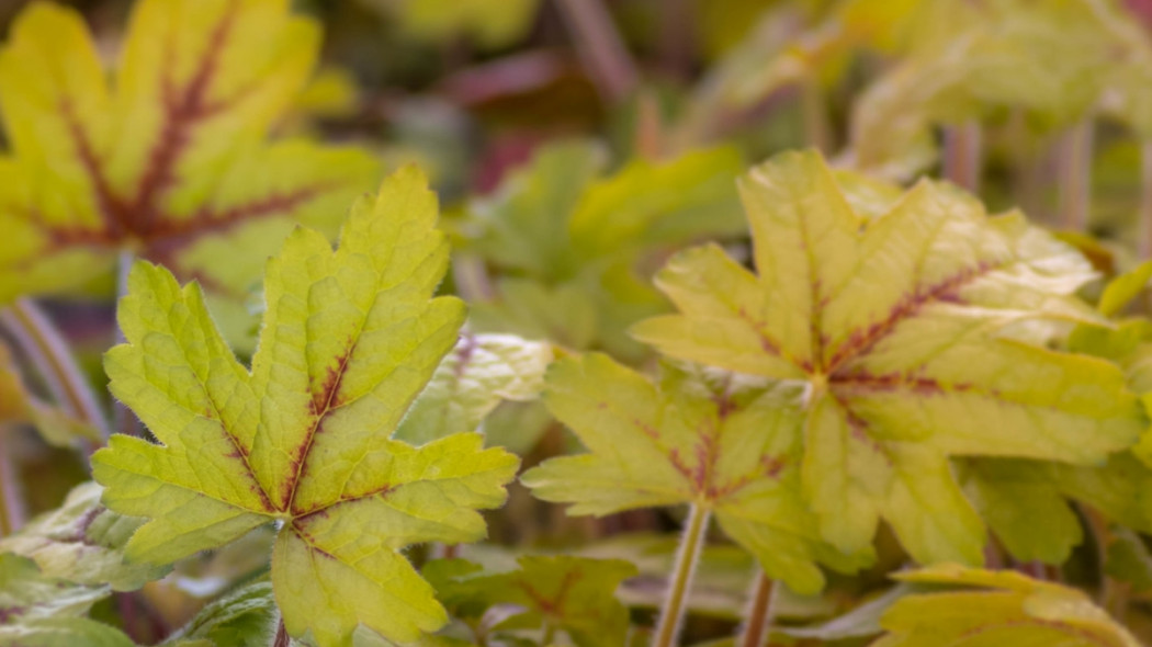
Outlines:
{"type": "Polygon", "coordinates": [[[100,505],[94,482],[73,488],[63,504],[0,540],[0,550],[33,560],[46,577],[134,591],[160,579],[165,565],[124,563],[124,545],[143,523],[100,505]]]}

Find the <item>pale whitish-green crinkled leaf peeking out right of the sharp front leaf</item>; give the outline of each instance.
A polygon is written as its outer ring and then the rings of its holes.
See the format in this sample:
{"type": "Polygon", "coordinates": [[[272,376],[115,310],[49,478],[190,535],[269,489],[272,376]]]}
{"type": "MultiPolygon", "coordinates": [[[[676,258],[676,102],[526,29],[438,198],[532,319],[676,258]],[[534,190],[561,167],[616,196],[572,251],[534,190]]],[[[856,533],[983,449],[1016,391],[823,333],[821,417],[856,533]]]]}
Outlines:
{"type": "Polygon", "coordinates": [[[416,399],[395,439],[423,444],[475,432],[501,401],[529,402],[544,389],[552,348],[515,335],[465,332],[416,399]]]}

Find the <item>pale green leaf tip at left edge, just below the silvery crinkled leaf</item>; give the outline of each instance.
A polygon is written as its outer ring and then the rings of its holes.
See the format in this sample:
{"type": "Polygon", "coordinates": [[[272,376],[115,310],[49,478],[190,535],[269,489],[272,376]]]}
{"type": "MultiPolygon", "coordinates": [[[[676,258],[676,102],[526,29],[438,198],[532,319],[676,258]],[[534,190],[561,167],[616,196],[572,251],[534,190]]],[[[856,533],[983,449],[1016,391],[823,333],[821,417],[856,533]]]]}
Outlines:
{"type": "Polygon", "coordinates": [[[26,557],[0,554],[0,626],[82,616],[108,594],[107,586],[84,586],[48,577],[26,557]]]}

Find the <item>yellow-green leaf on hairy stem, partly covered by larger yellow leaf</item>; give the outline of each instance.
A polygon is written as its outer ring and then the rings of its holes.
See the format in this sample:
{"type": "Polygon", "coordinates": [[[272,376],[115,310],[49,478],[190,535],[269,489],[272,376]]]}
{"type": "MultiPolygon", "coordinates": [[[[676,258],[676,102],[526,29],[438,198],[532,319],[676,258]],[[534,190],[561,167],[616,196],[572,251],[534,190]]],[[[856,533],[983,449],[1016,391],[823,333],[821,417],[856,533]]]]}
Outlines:
{"type": "Polygon", "coordinates": [[[548,409],[590,452],[524,473],[537,497],[575,515],[692,503],[799,593],[824,585],[817,562],[869,561],[866,545],[856,555],[825,545],[801,496],[796,389],[670,367],[658,387],[602,355],[558,361],[546,385],[548,409]]]}

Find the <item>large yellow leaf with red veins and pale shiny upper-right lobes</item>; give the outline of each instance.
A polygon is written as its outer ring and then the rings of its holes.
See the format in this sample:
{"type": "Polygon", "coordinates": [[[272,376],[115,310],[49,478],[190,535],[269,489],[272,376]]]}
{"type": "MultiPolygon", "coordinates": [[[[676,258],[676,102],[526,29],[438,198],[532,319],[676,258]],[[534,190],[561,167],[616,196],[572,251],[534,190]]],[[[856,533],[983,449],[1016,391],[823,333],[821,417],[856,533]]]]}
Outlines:
{"type": "Polygon", "coordinates": [[[806,501],[844,551],[886,519],[922,563],[983,560],[984,526],[950,456],[1099,464],[1145,423],[1112,364],[1025,343],[1033,319],[1093,315],[1071,248],[922,181],[863,219],[818,153],[741,181],[758,275],[719,248],[658,275],[681,314],[635,334],[661,352],[805,385],[806,501]]]}

